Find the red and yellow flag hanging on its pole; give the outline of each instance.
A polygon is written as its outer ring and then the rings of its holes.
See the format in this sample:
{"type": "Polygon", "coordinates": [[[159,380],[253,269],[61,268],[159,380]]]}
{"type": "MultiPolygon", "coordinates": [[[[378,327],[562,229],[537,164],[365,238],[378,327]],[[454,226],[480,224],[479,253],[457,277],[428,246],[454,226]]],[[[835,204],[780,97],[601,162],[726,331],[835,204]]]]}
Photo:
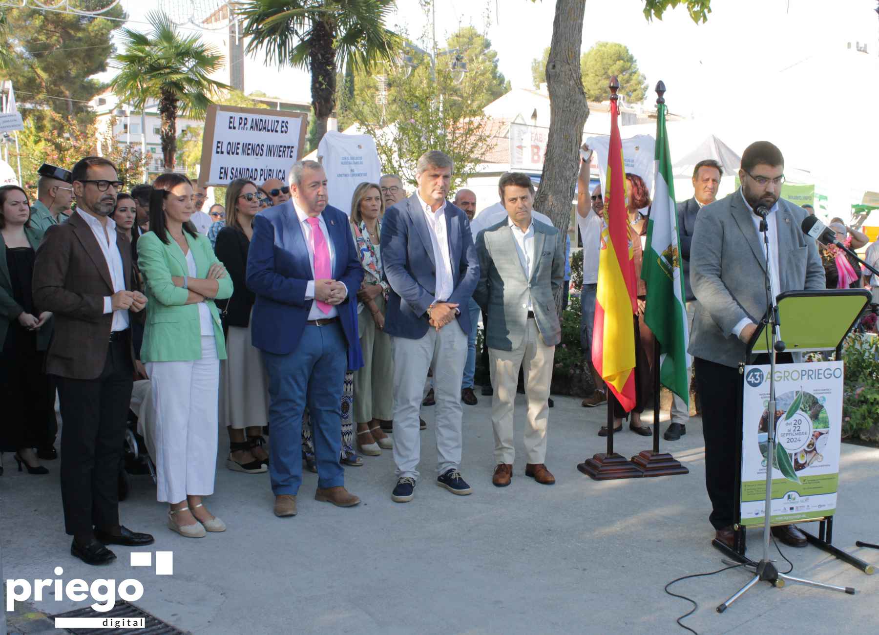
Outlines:
{"type": "Polygon", "coordinates": [[[635,407],[635,260],[628,235],[626,169],[611,100],[610,149],[605,178],[605,228],[601,231],[599,282],[592,332],[592,364],[626,412],[635,407]]]}

